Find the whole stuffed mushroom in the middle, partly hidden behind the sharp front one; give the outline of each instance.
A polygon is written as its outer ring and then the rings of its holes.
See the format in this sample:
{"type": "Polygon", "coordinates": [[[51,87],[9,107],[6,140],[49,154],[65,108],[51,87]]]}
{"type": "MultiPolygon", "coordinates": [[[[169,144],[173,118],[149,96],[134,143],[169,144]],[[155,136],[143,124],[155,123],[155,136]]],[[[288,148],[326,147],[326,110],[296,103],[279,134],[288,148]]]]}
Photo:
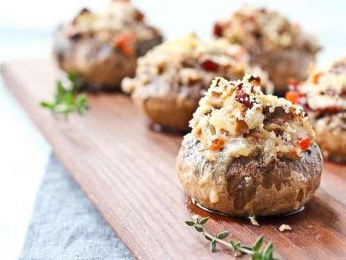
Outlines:
{"type": "Polygon", "coordinates": [[[164,42],[138,59],[136,77],[125,78],[122,90],[131,93],[155,125],[188,132],[188,121],[212,78],[237,79],[246,72],[261,76],[265,91],[272,91],[266,72],[248,64],[242,46],[227,40],[203,42],[190,34],[164,42]]]}

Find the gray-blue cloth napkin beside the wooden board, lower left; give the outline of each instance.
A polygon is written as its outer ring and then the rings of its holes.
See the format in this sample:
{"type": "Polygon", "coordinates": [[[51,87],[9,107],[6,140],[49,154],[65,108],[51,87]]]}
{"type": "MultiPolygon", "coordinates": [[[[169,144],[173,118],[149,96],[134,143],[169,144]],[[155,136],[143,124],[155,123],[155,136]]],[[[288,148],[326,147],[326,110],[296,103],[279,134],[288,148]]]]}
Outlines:
{"type": "Polygon", "coordinates": [[[51,155],[19,259],[132,257],[55,155],[51,155]]]}

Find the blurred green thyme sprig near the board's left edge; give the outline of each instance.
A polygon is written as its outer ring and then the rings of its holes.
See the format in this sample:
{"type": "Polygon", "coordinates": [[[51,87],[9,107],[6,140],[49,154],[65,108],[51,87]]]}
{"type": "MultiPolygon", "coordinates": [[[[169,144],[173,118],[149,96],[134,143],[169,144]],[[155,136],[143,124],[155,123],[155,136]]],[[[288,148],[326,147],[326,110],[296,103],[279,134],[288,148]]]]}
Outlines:
{"type": "Polygon", "coordinates": [[[55,101],[49,103],[42,101],[40,105],[52,113],[62,114],[67,120],[69,113],[77,112],[84,115],[89,109],[86,104],[86,94],[76,94],[82,87],[82,81],[74,73],[67,73],[66,78],[57,80],[55,101]]]}

